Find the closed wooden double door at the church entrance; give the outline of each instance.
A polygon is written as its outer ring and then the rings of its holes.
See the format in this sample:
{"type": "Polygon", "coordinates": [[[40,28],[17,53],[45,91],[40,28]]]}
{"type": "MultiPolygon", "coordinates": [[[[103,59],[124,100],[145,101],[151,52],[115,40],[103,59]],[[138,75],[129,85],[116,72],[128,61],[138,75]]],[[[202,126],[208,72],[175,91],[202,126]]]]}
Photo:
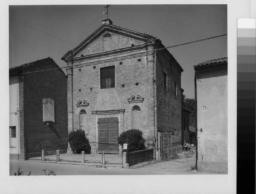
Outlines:
{"type": "Polygon", "coordinates": [[[98,149],[99,153],[119,153],[118,147],[118,117],[98,119],[98,149]]]}

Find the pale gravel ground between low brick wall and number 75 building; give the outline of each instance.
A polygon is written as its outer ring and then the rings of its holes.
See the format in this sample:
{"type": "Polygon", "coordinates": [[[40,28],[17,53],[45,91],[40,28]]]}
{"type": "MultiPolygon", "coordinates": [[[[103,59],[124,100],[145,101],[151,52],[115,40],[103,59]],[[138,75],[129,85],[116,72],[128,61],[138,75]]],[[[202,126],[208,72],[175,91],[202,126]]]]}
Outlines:
{"type": "Polygon", "coordinates": [[[195,147],[188,151],[182,151],[182,153],[170,161],[159,162],[153,160],[133,165],[130,168],[152,171],[195,171],[195,147]]]}

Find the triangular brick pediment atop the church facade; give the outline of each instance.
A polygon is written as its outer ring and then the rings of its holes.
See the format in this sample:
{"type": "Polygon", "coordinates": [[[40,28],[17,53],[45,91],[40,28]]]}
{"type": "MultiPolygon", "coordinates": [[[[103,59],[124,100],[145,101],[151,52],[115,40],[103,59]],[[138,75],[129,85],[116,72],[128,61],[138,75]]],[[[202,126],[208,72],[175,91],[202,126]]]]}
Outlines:
{"type": "Polygon", "coordinates": [[[124,49],[154,42],[155,37],[140,32],[124,29],[119,26],[103,24],[93,34],[81,42],[75,49],[67,52],[62,58],[67,60],[87,55],[124,49]]]}

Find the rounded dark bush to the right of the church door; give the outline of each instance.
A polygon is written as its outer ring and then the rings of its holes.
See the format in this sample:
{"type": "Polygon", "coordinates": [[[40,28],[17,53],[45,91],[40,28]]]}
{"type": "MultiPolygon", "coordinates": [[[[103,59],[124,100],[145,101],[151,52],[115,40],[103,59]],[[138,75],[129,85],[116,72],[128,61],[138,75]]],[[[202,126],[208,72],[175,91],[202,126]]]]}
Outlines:
{"type": "Polygon", "coordinates": [[[138,129],[130,129],[121,133],[118,137],[118,143],[120,145],[127,143],[128,152],[146,149],[144,145],[145,139],[142,137],[142,131],[138,129]]]}

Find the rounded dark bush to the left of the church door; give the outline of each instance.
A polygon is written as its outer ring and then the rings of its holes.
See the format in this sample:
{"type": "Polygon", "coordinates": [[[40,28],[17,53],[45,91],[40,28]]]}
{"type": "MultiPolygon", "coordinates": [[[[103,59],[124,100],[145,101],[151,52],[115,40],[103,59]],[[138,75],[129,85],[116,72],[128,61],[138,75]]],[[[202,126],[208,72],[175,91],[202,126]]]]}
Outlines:
{"type": "Polygon", "coordinates": [[[91,147],[89,140],[85,137],[84,130],[71,131],[68,134],[68,142],[73,153],[90,153],[91,147]]]}

